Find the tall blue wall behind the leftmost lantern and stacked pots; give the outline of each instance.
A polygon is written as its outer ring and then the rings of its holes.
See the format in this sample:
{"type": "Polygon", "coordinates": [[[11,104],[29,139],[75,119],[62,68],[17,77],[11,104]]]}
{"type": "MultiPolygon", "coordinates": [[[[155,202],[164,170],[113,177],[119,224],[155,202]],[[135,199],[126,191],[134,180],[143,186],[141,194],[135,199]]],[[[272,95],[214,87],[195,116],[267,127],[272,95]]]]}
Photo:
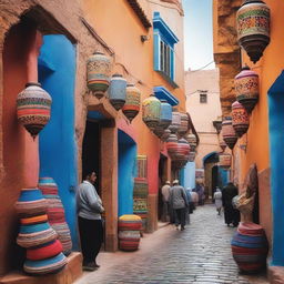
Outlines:
{"type": "Polygon", "coordinates": [[[78,248],[74,189],[77,148],[74,133],[75,48],[64,36],[44,36],[39,58],[39,81],[52,97],[51,120],[41,131],[40,176],[59,186],[73,248],[78,248]]]}

